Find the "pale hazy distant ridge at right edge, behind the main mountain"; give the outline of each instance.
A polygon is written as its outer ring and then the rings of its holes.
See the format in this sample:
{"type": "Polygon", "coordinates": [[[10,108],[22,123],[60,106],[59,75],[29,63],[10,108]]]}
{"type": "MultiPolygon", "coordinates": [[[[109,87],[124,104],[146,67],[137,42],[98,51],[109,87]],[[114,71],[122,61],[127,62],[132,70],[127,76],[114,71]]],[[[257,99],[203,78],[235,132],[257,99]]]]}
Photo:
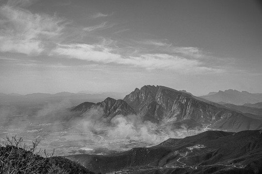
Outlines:
{"type": "Polygon", "coordinates": [[[260,93],[249,93],[246,91],[240,92],[233,89],[228,89],[225,91],[220,90],[216,93],[211,92],[206,96],[200,96],[200,97],[212,102],[226,102],[236,105],[262,102],[262,94],[260,93]]]}

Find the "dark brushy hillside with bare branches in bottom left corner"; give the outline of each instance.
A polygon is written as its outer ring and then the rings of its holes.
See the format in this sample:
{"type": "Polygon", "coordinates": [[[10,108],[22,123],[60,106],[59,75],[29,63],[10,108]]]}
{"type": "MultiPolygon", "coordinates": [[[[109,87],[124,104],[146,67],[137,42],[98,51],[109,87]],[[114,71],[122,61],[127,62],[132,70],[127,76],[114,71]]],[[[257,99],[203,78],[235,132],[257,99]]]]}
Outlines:
{"type": "Polygon", "coordinates": [[[21,138],[5,140],[0,145],[0,174],[94,174],[75,161],[36,150],[39,141],[29,147],[21,138]]]}

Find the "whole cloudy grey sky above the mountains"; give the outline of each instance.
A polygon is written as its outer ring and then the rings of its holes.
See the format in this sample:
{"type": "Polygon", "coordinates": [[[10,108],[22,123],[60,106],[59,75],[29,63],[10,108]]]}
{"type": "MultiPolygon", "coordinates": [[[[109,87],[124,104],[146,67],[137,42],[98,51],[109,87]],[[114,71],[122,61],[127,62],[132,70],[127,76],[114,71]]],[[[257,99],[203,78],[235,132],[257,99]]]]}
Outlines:
{"type": "Polygon", "coordinates": [[[0,0],[0,92],[262,93],[258,0],[0,0]]]}

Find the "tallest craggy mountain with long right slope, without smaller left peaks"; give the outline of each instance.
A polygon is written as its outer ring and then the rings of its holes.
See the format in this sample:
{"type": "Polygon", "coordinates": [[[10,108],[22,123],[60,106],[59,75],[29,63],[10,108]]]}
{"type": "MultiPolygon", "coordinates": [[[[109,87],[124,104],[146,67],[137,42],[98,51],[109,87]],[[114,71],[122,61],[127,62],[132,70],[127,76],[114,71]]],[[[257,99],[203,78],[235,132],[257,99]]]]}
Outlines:
{"type": "MultiPolygon", "coordinates": [[[[124,99],[144,120],[170,124],[194,120],[216,129],[242,131],[262,128],[262,120],[252,119],[219,104],[197,100],[188,93],[163,86],[136,88],[124,99]]],[[[188,125],[189,126],[189,125],[188,125]]]]}

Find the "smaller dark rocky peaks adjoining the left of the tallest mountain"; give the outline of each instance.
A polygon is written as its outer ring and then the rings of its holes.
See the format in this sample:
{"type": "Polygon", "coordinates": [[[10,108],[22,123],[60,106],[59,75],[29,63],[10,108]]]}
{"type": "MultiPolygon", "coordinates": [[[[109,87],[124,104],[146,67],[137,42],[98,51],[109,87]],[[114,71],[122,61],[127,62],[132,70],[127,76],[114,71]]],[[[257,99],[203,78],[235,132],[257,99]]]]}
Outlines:
{"type": "Polygon", "coordinates": [[[110,121],[116,115],[135,115],[135,111],[123,100],[115,100],[110,97],[106,98],[103,102],[92,103],[92,102],[83,102],[78,106],[74,107],[71,111],[81,112],[82,114],[87,112],[89,109],[98,109],[103,110],[103,117],[106,117],[110,121]]]}

